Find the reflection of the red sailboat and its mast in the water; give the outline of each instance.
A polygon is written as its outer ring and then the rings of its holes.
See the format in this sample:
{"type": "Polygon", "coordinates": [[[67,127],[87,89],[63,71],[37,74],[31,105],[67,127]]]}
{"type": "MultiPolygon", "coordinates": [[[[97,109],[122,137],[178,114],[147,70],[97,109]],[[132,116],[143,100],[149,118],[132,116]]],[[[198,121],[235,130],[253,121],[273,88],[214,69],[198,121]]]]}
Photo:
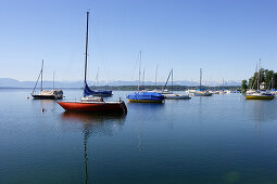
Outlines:
{"type": "MultiPolygon", "coordinates": [[[[88,183],[88,155],[87,142],[90,135],[95,133],[103,133],[104,135],[112,135],[114,129],[118,129],[124,124],[126,114],[89,114],[89,113],[70,113],[64,111],[61,115],[63,122],[81,123],[81,131],[84,134],[84,165],[85,165],[85,183],[88,183]]],[[[90,180],[90,183],[92,181],[90,180]]]]}

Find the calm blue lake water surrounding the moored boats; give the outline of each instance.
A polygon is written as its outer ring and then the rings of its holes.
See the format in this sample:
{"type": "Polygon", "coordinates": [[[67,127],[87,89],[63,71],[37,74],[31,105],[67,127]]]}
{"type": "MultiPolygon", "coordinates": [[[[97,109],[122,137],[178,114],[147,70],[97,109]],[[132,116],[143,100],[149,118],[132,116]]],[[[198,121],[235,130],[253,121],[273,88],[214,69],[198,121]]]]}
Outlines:
{"type": "Polygon", "coordinates": [[[0,183],[277,183],[276,100],[226,94],[89,116],[29,93],[0,90],[0,183]]]}

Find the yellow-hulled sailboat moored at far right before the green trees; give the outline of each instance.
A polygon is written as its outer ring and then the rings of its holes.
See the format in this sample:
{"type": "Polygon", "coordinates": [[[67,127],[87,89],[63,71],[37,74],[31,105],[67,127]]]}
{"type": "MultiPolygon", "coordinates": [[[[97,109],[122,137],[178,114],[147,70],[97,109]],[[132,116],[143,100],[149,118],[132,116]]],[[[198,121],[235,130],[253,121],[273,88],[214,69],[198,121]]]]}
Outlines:
{"type": "Polygon", "coordinates": [[[274,95],[266,90],[260,90],[260,81],[261,81],[261,60],[260,60],[260,68],[256,77],[256,91],[251,90],[245,93],[245,100],[273,100],[274,95]]]}

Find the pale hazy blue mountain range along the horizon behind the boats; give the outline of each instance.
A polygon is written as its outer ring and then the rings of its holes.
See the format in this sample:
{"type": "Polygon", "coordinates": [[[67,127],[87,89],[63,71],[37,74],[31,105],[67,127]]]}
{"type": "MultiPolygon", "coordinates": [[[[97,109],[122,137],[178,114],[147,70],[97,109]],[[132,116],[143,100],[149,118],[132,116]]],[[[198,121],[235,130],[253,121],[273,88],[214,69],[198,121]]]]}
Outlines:
{"type": "MultiPolygon", "coordinates": [[[[0,88],[34,88],[35,87],[35,81],[18,81],[15,79],[11,78],[0,78],[0,88]]],[[[156,82],[158,86],[164,86],[165,82],[156,82]]],[[[169,84],[171,82],[168,82],[169,84]]],[[[88,81],[89,86],[96,86],[95,82],[88,81]]],[[[122,80],[116,80],[116,81],[99,81],[98,86],[137,86],[138,81],[122,81],[122,80]]],[[[142,83],[141,83],[142,84],[142,83]]],[[[144,81],[144,86],[154,86],[155,83],[153,81],[144,81]]],[[[174,81],[175,86],[198,86],[199,83],[193,81],[174,81]]],[[[225,86],[240,86],[240,81],[227,81],[225,86]]],[[[55,88],[83,88],[84,83],[83,81],[55,81],[54,83],[55,88]]],[[[216,87],[216,86],[222,86],[221,82],[216,81],[206,81],[203,82],[203,86],[211,86],[211,87],[216,87]]],[[[38,83],[38,87],[40,87],[40,83],[38,83]]],[[[43,87],[45,88],[52,88],[53,82],[52,81],[43,81],[43,87]]]]}

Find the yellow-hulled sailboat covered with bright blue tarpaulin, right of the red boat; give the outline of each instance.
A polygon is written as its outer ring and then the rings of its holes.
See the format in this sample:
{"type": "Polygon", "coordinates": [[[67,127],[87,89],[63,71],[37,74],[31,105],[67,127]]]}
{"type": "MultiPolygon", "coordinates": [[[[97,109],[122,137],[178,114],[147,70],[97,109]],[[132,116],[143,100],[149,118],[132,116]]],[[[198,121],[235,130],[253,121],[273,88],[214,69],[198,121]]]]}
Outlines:
{"type": "Polygon", "coordinates": [[[139,82],[138,92],[130,93],[126,96],[129,103],[163,103],[164,96],[156,92],[140,91],[140,65],[141,65],[141,51],[139,52],[139,82]]]}

